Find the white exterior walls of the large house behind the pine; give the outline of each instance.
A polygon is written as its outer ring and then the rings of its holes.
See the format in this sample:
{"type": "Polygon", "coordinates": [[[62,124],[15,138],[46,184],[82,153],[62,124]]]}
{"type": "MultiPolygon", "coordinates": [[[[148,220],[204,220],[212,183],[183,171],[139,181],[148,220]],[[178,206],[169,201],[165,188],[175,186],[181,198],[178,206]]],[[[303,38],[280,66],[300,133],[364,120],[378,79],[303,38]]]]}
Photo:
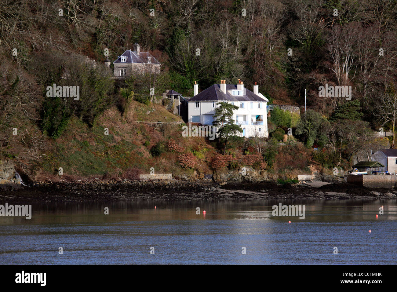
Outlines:
{"type": "MultiPolygon", "coordinates": [[[[217,107],[215,102],[215,107],[217,107]]],[[[230,101],[228,101],[230,102],[230,101]]],[[[200,106],[198,108],[195,107],[195,101],[189,101],[188,105],[188,122],[192,122],[192,116],[200,116],[200,123],[204,123],[204,115],[205,114],[215,114],[215,108],[212,107],[212,101],[199,101],[200,106]]],[[[252,137],[255,133],[260,136],[268,137],[268,120],[266,114],[266,104],[267,102],[262,102],[263,108],[258,108],[258,102],[253,102],[253,108],[251,108],[250,102],[245,101],[244,108],[239,108],[238,110],[233,111],[233,120],[237,122],[237,116],[245,115],[245,122],[247,124],[241,124],[241,128],[245,129],[245,132],[241,133],[240,136],[245,134],[245,137],[252,137]],[[263,124],[262,125],[255,125],[252,124],[251,120],[255,121],[256,115],[263,116],[263,124]],[[259,131],[260,129],[260,131],[259,131]]],[[[235,101],[235,105],[240,107],[240,102],[235,101]]]]}

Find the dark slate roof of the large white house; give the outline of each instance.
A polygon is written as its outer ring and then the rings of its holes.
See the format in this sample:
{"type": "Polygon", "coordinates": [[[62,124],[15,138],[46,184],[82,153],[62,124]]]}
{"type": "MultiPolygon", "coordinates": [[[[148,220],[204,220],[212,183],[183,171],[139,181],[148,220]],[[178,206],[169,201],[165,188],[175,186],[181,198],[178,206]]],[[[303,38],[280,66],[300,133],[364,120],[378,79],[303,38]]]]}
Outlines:
{"type": "MultiPolygon", "coordinates": [[[[198,95],[192,97],[188,101],[268,101],[254,94],[252,91],[244,87],[244,95],[231,95],[228,90],[237,90],[237,85],[226,84],[226,94],[222,92],[220,84],[214,84],[204,89],[198,95]]],[[[263,95],[262,95],[263,96],[263,95]]]]}

